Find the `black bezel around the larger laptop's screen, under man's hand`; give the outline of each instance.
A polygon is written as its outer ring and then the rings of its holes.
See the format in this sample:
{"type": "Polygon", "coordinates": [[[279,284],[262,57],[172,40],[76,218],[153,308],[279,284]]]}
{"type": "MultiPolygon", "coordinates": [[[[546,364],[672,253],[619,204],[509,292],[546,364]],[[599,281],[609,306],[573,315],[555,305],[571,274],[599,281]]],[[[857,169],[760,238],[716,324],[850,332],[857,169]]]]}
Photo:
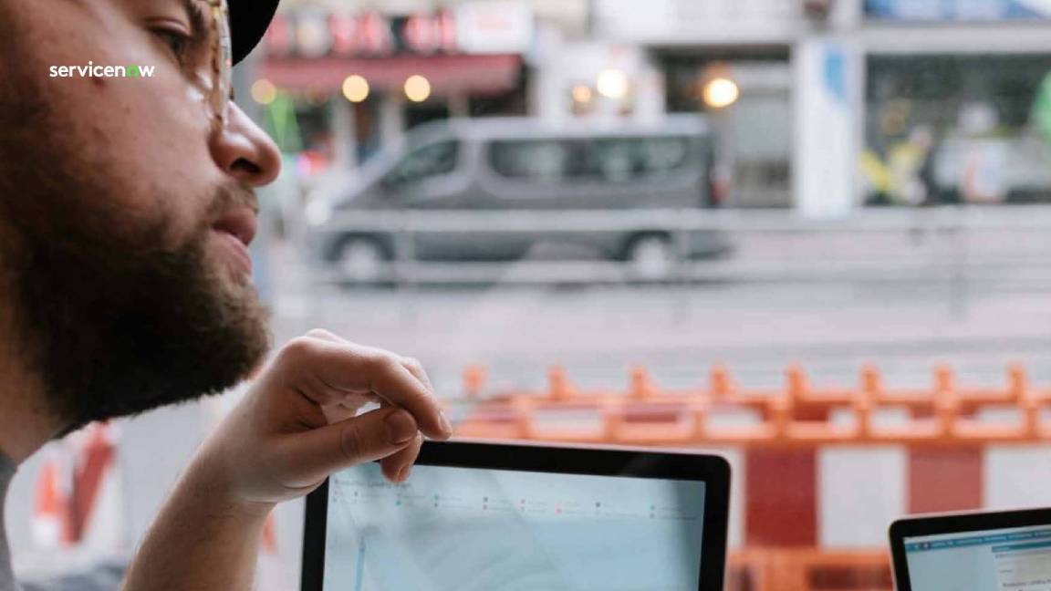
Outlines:
{"type": "MultiPolygon", "coordinates": [[[[729,464],[720,455],[601,446],[566,448],[458,441],[425,443],[416,464],[703,482],[705,492],[698,591],[722,591],[729,521],[729,464]]],[[[324,590],[328,484],[326,480],[307,496],[301,580],[303,591],[324,590]]]]}

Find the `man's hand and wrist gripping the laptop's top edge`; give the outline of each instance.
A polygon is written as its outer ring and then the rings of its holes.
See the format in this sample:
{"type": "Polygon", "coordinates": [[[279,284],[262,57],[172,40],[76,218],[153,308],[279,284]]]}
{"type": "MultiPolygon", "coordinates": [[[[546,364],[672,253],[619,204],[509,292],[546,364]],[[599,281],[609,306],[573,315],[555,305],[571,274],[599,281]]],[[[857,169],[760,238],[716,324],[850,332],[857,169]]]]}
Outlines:
{"type": "Polygon", "coordinates": [[[452,428],[419,362],[312,330],[285,345],[205,443],[194,477],[269,510],[364,462],[401,482],[424,434],[445,440],[452,428]],[[380,408],[355,416],[369,402],[380,408]]]}

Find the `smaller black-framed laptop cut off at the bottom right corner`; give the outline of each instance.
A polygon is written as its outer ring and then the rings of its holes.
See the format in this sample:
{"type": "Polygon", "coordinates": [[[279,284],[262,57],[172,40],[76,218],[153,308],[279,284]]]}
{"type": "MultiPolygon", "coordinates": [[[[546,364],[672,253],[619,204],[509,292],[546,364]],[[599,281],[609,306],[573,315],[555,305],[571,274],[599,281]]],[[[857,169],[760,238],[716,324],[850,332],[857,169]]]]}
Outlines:
{"type": "Polygon", "coordinates": [[[899,591],[1051,589],[1051,509],[899,519],[890,552],[899,591]]]}

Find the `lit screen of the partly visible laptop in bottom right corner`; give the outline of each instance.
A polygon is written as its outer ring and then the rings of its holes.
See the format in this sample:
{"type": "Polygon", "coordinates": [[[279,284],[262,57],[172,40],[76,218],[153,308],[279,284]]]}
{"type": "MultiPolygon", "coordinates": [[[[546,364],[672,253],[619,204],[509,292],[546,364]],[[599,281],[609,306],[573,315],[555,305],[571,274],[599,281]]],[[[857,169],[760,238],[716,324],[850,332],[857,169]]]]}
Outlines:
{"type": "Polygon", "coordinates": [[[905,538],[913,591],[1051,589],[1051,527],[905,538]]]}

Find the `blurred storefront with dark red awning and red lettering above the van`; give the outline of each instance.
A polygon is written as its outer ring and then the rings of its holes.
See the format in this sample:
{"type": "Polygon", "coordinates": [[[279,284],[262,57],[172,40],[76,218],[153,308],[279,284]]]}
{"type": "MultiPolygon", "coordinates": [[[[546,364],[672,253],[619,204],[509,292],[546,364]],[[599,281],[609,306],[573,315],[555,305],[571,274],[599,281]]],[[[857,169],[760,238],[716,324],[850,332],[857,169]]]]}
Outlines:
{"type": "Polygon", "coordinates": [[[300,9],[271,25],[252,94],[279,140],[292,122],[290,149],[352,165],[433,119],[524,114],[533,37],[533,15],[516,2],[412,15],[300,9]]]}

